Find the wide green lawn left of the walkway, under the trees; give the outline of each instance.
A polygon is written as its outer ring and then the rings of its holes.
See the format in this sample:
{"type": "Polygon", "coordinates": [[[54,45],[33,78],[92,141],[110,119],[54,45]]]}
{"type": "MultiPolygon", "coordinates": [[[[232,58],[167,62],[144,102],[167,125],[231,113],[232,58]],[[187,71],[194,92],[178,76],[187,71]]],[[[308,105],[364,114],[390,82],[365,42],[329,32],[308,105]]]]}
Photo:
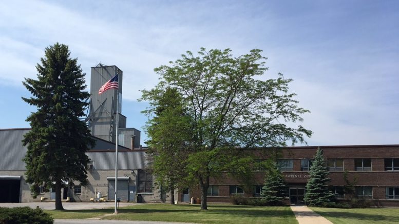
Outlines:
{"type": "Polygon", "coordinates": [[[144,204],[123,207],[118,215],[113,209],[46,211],[54,218],[92,218],[198,223],[298,223],[290,207],[252,207],[210,205],[200,211],[199,205],[144,204]],[[106,215],[106,216],[104,216],[106,215]]]}

